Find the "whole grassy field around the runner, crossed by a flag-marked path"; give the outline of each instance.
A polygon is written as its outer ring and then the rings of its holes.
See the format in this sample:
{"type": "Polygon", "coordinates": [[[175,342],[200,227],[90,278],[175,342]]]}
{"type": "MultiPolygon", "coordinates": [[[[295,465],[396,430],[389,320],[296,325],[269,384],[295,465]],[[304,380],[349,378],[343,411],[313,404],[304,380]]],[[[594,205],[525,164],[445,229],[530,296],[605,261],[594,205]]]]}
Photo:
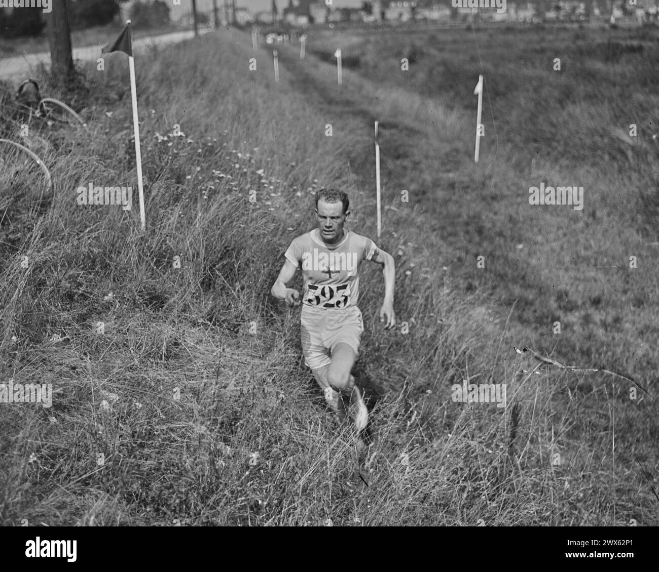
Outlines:
{"type": "Polygon", "coordinates": [[[89,129],[40,133],[53,196],[0,163],[0,377],[55,392],[0,404],[2,523],[657,525],[656,41],[318,32],[304,61],[279,47],[279,84],[237,31],[152,51],[144,236],[136,190],[132,211],[76,204],[90,182],[136,186],[128,74],[90,66],[89,129]],[[319,186],[346,190],[347,227],[375,238],[376,119],[399,326],[378,321],[372,265],[358,450],[270,286],[319,186]],[[583,210],[529,205],[540,182],[584,186],[583,210]],[[453,402],[465,378],[505,384],[506,407],[453,402]]]}

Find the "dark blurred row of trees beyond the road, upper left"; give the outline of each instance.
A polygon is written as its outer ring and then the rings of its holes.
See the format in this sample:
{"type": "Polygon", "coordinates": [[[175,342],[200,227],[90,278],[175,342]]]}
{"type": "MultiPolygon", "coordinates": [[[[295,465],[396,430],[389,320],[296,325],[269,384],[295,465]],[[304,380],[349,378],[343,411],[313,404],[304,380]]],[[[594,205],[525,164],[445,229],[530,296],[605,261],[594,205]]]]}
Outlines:
{"type": "MultiPolygon", "coordinates": [[[[129,0],[67,0],[71,30],[105,26],[119,18],[121,4],[129,0]]],[[[137,1],[130,7],[136,28],[169,24],[169,6],[164,0],[137,1]]],[[[45,28],[45,14],[37,8],[1,8],[0,38],[39,36],[45,28]]]]}

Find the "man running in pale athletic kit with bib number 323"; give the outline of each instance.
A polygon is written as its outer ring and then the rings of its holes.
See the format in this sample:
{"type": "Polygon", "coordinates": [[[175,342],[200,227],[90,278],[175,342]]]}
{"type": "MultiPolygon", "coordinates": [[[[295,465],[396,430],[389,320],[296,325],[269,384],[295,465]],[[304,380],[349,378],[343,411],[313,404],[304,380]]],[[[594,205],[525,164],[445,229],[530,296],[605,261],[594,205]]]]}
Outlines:
{"type": "Polygon", "coordinates": [[[272,286],[272,296],[285,299],[290,306],[300,303],[300,293],[287,288],[298,268],[302,270],[301,338],[304,363],[311,368],[316,381],[324,389],[325,398],[339,419],[346,417],[339,394],[350,395],[351,409],[357,431],[368,422],[368,409],[362,400],[351,369],[357,359],[359,340],[364,331],[362,313],[357,307],[359,271],[362,260],[384,265],[384,303],[380,321],[386,318],[387,329],[395,326],[393,313],[393,257],[375,243],[343,224],[350,214],[348,195],[334,189],[316,193],[318,228],[298,236],[291,242],[286,261],[272,286]],[[331,359],[328,356],[331,351],[331,359]]]}

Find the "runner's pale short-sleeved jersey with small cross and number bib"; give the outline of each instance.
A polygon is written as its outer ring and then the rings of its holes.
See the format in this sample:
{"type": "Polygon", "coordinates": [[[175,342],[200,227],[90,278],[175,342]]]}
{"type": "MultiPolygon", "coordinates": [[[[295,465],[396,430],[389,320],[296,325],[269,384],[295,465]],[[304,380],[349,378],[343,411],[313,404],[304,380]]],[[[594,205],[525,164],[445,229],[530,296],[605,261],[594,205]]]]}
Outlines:
{"type": "Polygon", "coordinates": [[[302,303],[319,309],[349,308],[357,305],[359,270],[363,260],[378,252],[376,244],[347,230],[341,242],[325,244],[318,228],[291,242],[285,257],[302,270],[302,303]]]}

